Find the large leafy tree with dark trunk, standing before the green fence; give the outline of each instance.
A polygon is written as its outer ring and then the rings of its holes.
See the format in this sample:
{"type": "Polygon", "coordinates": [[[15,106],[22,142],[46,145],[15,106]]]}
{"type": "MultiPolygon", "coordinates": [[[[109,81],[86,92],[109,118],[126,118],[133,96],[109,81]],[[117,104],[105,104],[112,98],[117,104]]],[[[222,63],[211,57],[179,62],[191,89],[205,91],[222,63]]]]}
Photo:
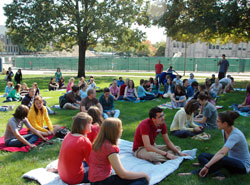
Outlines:
{"type": "Polygon", "coordinates": [[[143,0],[13,0],[4,7],[6,27],[15,44],[39,50],[79,46],[78,77],[85,76],[85,51],[102,40],[133,47],[145,37],[132,26],[148,25],[143,0]]]}

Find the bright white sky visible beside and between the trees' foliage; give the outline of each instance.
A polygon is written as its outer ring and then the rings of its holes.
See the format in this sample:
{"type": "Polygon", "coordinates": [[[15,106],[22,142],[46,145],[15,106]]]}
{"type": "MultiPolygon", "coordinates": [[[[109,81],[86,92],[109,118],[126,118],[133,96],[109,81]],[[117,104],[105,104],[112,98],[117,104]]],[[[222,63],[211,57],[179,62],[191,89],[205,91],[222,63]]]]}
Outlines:
{"type": "MultiPolygon", "coordinates": [[[[11,3],[12,0],[0,0],[0,25],[5,25],[6,17],[4,16],[3,7],[5,4],[11,3]]],[[[147,40],[150,40],[152,44],[160,41],[166,41],[164,35],[164,29],[152,26],[151,28],[139,27],[142,31],[146,32],[147,40]]]]}

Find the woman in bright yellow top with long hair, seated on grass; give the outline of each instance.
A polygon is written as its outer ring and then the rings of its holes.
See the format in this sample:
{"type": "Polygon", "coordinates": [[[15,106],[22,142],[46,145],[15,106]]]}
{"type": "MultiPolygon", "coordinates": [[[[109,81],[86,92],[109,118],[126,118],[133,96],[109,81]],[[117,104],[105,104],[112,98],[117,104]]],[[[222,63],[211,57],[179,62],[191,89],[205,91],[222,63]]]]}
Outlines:
{"type": "Polygon", "coordinates": [[[35,97],[34,103],[28,114],[28,120],[43,136],[54,135],[56,131],[61,128],[59,125],[52,125],[47,109],[43,105],[43,100],[40,96],[35,97]],[[44,122],[46,122],[47,127],[44,127],[44,122]]]}

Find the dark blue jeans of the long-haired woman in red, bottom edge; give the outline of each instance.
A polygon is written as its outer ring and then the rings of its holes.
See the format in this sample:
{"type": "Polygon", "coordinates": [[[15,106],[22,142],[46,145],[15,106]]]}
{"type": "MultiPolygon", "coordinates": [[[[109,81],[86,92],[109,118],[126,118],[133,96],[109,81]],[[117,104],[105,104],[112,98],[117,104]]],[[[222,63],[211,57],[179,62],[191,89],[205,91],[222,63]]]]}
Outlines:
{"type": "Polygon", "coordinates": [[[126,180],[121,179],[118,175],[111,175],[103,181],[91,182],[91,185],[146,185],[148,181],[145,178],[126,180]]]}

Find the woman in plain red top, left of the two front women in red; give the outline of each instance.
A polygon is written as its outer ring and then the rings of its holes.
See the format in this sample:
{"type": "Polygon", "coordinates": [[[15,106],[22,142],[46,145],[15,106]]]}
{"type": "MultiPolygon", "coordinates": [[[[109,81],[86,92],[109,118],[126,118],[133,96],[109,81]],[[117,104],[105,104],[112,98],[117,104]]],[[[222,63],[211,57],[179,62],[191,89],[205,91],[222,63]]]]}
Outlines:
{"type": "Polygon", "coordinates": [[[85,112],[73,117],[71,132],[64,138],[58,161],[58,173],[67,184],[87,183],[88,172],[84,172],[92,144],[87,138],[91,131],[92,118],[85,112]]]}

